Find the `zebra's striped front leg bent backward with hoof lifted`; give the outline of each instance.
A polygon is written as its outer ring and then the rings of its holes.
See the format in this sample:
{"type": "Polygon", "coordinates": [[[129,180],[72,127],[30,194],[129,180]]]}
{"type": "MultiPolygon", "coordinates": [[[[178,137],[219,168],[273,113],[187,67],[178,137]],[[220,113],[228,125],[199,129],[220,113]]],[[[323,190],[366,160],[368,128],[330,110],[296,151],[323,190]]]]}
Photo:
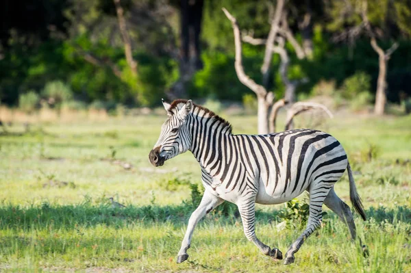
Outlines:
{"type": "Polygon", "coordinates": [[[273,257],[274,259],[282,259],[282,252],[278,248],[271,249],[266,244],[263,244],[256,236],[255,222],[256,222],[256,200],[251,198],[240,202],[238,205],[238,211],[242,220],[242,227],[244,229],[245,237],[253,242],[264,255],[273,257]]]}

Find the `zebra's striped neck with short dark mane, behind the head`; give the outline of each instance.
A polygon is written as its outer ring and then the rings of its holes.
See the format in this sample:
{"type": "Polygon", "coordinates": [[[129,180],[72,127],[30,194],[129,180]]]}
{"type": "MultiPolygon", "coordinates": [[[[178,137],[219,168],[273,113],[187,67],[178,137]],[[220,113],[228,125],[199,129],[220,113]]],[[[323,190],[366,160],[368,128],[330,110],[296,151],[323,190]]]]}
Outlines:
{"type": "Polygon", "coordinates": [[[220,169],[227,151],[231,151],[232,127],[223,118],[195,107],[190,115],[190,151],[202,168],[212,172],[220,169]]]}

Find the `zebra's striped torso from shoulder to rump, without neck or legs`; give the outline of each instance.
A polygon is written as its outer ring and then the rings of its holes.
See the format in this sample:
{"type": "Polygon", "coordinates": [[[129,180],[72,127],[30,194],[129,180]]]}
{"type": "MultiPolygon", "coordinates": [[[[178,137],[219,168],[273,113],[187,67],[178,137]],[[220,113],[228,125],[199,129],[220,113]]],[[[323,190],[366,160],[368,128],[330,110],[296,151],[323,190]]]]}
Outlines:
{"type": "Polygon", "coordinates": [[[247,174],[258,187],[258,203],[284,203],[314,184],[334,184],[347,168],[343,146],[323,131],[236,137],[241,139],[247,174]]]}

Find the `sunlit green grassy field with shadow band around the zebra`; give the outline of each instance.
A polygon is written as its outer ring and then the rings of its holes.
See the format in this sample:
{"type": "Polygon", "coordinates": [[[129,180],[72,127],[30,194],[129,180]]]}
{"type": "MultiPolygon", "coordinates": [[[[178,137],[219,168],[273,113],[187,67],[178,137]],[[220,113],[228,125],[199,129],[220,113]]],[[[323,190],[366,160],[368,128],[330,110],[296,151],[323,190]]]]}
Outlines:
{"type": "MultiPolygon", "coordinates": [[[[224,117],[234,133],[256,131],[254,116],[224,117]]],[[[175,263],[200,172],[190,153],[162,168],[149,164],[164,119],[51,122],[27,133],[13,125],[1,133],[0,272],[411,272],[411,116],[346,114],[321,125],[349,154],[369,217],[356,216],[356,224],[370,255],[362,257],[328,211],[288,266],[247,241],[230,207],[197,226],[190,258],[175,263]],[[127,207],[112,208],[111,196],[127,207]]],[[[336,192],[349,203],[346,176],[336,192]]],[[[256,231],[285,253],[301,228],[279,231],[281,211],[258,206],[256,231]]]]}

